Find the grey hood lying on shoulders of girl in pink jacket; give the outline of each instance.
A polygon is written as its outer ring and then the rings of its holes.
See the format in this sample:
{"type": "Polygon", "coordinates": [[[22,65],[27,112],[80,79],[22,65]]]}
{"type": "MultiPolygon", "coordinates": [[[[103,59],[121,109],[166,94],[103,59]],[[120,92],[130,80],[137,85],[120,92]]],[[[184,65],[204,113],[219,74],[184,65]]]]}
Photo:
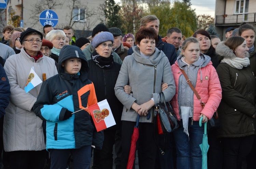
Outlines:
{"type": "MultiPolygon", "coordinates": [[[[211,57],[210,56],[204,55],[202,53],[200,53],[199,56],[200,56],[201,59],[199,59],[196,62],[192,63],[196,67],[200,66],[202,68],[202,67],[205,67],[207,64],[212,64],[212,62],[210,62],[211,61],[211,57]]],[[[178,65],[180,68],[182,68],[184,65],[187,65],[186,63],[184,63],[181,60],[182,57],[183,57],[183,55],[178,56],[177,57],[177,61],[175,61],[175,64],[178,65]]]]}

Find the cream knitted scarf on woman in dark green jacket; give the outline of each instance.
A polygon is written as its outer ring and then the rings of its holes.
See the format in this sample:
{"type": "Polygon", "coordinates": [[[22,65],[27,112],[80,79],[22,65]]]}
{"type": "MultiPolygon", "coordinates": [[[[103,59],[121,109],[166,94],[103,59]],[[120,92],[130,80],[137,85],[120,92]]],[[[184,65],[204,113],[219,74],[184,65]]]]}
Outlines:
{"type": "Polygon", "coordinates": [[[235,68],[235,69],[243,69],[243,67],[247,67],[248,65],[250,65],[250,60],[248,57],[223,58],[221,63],[227,63],[228,65],[230,65],[232,68],[235,68]]]}

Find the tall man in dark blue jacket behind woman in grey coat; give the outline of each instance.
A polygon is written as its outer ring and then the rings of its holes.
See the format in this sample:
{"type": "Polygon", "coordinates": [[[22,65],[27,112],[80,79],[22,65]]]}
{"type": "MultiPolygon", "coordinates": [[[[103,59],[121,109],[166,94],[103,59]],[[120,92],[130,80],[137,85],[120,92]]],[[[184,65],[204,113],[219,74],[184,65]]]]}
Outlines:
{"type": "MultiPolygon", "coordinates": [[[[160,21],[155,15],[144,16],[140,22],[140,27],[153,27],[156,30],[157,34],[159,32],[159,25],[160,21]]],[[[177,54],[172,44],[163,42],[161,36],[158,35],[156,48],[165,53],[171,65],[174,64],[177,59],[177,54]]],[[[130,48],[128,50],[128,55],[131,55],[132,53],[133,50],[132,48],[130,48]]]]}

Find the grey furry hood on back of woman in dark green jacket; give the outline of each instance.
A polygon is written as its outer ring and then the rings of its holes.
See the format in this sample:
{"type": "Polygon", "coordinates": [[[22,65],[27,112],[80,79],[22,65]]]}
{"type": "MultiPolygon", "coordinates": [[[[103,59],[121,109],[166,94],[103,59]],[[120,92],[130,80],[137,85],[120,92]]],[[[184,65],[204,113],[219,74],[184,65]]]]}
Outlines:
{"type": "MultiPolygon", "coordinates": [[[[236,55],[234,54],[233,50],[231,50],[225,42],[220,42],[215,49],[215,52],[218,54],[218,61],[221,62],[223,58],[235,58],[236,55]]],[[[247,52],[246,57],[250,57],[249,53],[247,52]]]]}

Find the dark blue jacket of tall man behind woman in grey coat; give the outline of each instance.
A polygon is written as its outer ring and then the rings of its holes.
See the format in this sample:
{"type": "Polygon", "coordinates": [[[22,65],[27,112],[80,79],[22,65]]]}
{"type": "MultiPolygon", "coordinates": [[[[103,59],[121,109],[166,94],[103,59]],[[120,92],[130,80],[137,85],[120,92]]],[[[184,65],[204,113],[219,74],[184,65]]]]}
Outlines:
{"type": "MultiPolygon", "coordinates": [[[[156,48],[159,49],[159,51],[163,51],[171,65],[173,65],[174,62],[177,60],[175,47],[172,44],[163,42],[161,36],[159,35],[157,38],[156,48]]],[[[133,50],[132,48],[130,48],[127,52],[127,56],[131,55],[132,53],[133,50]]]]}

